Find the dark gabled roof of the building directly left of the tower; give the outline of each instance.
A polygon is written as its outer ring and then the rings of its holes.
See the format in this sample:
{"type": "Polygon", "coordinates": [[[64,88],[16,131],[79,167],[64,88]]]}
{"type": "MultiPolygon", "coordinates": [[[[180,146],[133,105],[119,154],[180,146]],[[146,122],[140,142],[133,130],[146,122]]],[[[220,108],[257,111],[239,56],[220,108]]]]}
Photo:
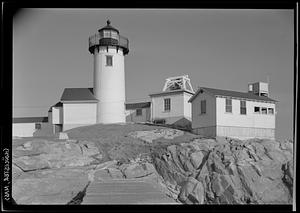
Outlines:
{"type": "Polygon", "coordinates": [[[89,101],[97,102],[94,97],[93,88],[65,88],[61,98],[64,101],[89,101]]]}

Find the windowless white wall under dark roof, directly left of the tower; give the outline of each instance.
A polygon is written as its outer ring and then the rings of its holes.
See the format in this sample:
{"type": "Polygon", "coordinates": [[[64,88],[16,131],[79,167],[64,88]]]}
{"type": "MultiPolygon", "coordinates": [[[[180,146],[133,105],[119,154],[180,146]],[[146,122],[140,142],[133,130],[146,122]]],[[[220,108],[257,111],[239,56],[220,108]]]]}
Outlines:
{"type": "Polygon", "coordinates": [[[63,106],[64,125],[96,123],[97,103],[64,103],[63,106]]]}

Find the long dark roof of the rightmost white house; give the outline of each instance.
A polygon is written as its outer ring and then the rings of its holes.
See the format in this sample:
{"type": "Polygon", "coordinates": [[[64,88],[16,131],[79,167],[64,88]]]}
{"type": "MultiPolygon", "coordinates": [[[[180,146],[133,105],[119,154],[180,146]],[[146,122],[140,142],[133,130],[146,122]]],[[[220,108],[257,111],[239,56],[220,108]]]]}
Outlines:
{"type": "Polygon", "coordinates": [[[249,99],[249,100],[257,100],[257,101],[266,101],[266,102],[278,102],[274,99],[265,96],[258,96],[250,92],[236,92],[230,90],[222,90],[222,89],[213,89],[207,87],[200,87],[198,91],[193,95],[189,102],[192,102],[201,91],[206,91],[207,93],[214,95],[214,96],[224,96],[224,97],[231,97],[231,98],[242,98],[242,99],[249,99]]]}

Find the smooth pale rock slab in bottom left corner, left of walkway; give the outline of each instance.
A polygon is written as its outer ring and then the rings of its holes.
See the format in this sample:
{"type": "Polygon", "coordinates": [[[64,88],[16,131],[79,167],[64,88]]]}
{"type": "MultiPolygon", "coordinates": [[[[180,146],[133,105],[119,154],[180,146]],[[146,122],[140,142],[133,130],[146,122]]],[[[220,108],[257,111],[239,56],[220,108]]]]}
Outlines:
{"type": "Polygon", "coordinates": [[[87,168],[27,172],[12,184],[17,204],[67,204],[88,184],[87,168]]]}

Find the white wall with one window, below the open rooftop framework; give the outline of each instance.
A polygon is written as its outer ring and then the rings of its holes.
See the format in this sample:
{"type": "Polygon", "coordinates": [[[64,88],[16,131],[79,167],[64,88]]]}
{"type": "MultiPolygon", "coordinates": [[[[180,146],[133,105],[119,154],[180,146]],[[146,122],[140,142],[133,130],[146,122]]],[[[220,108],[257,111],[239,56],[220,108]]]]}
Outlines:
{"type": "Polygon", "coordinates": [[[184,115],[184,98],[183,93],[180,94],[169,94],[164,96],[152,97],[152,119],[166,119],[166,122],[174,122],[172,118],[180,118],[184,115]],[[171,110],[164,110],[164,99],[171,99],[171,110]]]}

